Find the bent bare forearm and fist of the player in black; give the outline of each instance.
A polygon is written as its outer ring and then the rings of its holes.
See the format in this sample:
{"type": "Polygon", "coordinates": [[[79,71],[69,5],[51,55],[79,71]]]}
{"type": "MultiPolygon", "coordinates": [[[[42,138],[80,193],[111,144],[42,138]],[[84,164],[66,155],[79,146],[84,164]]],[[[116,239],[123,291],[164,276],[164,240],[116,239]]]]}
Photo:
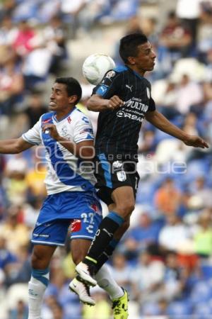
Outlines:
{"type": "Polygon", "coordinates": [[[114,95],[110,99],[104,99],[98,94],[93,94],[87,102],[89,111],[101,112],[105,110],[114,110],[124,105],[124,101],[119,96],[114,95]]]}

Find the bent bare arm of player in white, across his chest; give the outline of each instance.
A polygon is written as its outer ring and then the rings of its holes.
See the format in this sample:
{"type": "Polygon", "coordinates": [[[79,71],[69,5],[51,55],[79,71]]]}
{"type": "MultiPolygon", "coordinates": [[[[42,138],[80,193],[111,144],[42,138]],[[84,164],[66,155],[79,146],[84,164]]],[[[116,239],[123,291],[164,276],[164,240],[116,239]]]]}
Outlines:
{"type": "Polygon", "coordinates": [[[82,142],[75,143],[71,140],[67,140],[66,138],[63,138],[59,135],[57,128],[54,124],[45,124],[42,127],[43,132],[45,130],[49,130],[49,135],[54,138],[54,140],[57,140],[61,145],[63,145],[66,150],[69,150],[73,155],[76,157],[80,157],[81,159],[93,159],[95,156],[95,149],[93,145],[93,140],[83,140],[82,142]]]}

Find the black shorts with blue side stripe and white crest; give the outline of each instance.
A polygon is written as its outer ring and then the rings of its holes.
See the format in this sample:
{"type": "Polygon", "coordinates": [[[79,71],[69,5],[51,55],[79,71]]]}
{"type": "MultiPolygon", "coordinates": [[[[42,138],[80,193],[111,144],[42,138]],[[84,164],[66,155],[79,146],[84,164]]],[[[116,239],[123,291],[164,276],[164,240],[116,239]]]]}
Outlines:
{"type": "Polygon", "coordinates": [[[114,203],[112,191],[121,186],[131,186],[136,191],[139,185],[139,174],[136,172],[136,162],[131,160],[108,159],[107,155],[100,154],[95,157],[95,177],[98,197],[107,206],[114,203]]]}

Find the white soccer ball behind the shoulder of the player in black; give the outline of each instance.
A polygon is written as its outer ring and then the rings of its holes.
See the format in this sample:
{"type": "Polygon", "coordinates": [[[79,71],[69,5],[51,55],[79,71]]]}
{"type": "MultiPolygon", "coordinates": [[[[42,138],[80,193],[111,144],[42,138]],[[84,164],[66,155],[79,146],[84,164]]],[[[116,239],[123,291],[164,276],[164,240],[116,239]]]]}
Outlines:
{"type": "Polygon", "coordinates": [[[108,55],[95,53],[83,62],[83,76],[90,84],[97,85],[110,69],[115,67],[114,60],[108,55]]]}

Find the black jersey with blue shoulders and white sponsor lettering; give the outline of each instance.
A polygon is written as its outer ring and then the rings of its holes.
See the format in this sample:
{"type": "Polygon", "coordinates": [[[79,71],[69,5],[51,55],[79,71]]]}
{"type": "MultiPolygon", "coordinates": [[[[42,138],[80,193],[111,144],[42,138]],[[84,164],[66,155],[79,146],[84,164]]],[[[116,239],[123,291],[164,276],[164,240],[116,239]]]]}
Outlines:
{"type": "Polygon", "coordinates": [[[117,67],[105,74],[93,94],[104,99],[117,95],[124,101],[120,108],[100,112],[96,153],[136,157],[143,118],[146,112],[155,111],[150,82],[129,67],[117,67]]]}

